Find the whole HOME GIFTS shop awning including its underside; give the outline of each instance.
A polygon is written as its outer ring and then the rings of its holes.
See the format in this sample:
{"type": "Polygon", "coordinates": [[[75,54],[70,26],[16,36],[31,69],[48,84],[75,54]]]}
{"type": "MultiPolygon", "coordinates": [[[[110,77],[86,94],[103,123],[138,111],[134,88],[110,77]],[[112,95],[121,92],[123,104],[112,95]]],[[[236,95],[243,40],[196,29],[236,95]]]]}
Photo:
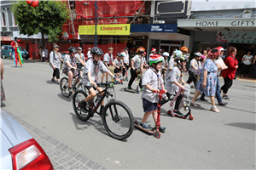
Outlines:
{"type": "Polygon", "coordinates": [[[189,31],[256,31],[256,18],[177,20],[177,27],[189,31]]]}

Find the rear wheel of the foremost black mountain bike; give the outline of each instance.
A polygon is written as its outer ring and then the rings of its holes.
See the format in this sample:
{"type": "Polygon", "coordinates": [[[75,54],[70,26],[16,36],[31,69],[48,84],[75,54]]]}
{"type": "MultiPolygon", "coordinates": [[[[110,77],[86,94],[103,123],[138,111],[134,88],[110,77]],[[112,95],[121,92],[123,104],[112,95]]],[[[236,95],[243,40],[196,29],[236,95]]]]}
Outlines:
{"type": "Polygon", "coordinates": [[[86,97],[87,94],[83,90],[78,90],[73,94],[73,111],[76,113],[79,119],[84,122],[90,118],[89,110],[87,108],[82,110],[79,103],[86,97]]]}

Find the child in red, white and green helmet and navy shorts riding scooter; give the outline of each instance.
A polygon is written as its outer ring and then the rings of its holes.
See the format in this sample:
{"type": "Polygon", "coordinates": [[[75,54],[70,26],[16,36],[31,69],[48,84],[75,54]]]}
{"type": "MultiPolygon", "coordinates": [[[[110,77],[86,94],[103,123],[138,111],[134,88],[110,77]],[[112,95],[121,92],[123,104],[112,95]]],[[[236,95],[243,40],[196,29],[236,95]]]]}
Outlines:
{"type": "MultiPolygon", "coordinates": [[[[153,115],[154,122],[157,122],[157,103],[159,101],[159,90],[163,89],[166,91],[163,83],[163,79],[160,73],[160,69],[162,67],[163,57],[159,54],[152,54],[149,58],[149,69],[145,72],[143,77],[143,110],[144,116],[143,121],[140,122],[139,126],[143,127],[145,130],[150,130],[146,121],[148,120],[148,116],[153,115]],[[157,93],[154,93],[156,91],[157,93]]],[[[160,132],[165,132],[166,127],[159,127],[160,132]]]]}

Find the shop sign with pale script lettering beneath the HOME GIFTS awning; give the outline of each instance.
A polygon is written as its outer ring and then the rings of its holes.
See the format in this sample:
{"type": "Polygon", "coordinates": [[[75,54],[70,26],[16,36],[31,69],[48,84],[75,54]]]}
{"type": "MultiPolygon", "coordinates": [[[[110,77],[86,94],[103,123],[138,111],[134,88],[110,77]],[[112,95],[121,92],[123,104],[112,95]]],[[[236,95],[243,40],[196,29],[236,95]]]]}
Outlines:
{"type": "Polygon", "coordinates": [[[217,42],[256,43],[254,31],[218,31],[217,42]]]}

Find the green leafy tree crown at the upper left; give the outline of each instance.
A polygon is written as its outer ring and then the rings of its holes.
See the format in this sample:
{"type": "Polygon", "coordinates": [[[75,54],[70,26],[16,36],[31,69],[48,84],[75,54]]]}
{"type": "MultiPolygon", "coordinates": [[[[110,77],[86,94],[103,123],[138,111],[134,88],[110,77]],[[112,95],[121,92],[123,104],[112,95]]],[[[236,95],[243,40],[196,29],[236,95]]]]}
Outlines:
{"type": "Polygon", "coordinates": [[[11,10],[20,33],[32,36],[42,33],[49,37],[49,42],[58,41],[63,24],[69,19],[67,3],[61,0],[39,0],[38,7],[31,7],[26,0],[17,0],[12,3],[11,10]]]}

